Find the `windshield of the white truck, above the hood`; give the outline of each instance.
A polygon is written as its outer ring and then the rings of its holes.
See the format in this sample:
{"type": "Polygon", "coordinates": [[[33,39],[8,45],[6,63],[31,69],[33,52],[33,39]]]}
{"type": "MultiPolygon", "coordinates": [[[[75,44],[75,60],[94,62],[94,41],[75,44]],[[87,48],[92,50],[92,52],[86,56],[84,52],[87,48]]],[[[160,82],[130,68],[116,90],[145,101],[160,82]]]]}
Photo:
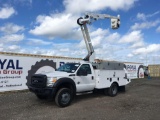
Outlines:
{"type": "Polygon", "coordinates": [[[60,66],[57,69],[57,71],[64,71],[64,72],[74,73],[79,66],[80,66],[79,63],[66,63],[66,64],[60,66]]]}

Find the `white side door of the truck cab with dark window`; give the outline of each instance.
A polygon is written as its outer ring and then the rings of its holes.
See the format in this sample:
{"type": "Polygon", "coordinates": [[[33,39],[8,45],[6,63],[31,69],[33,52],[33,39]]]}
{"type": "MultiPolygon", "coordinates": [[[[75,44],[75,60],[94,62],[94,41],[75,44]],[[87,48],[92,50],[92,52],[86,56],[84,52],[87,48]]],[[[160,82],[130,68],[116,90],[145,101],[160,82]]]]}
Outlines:
{"type": "Polygon", "coordinates": [[[95,77],[90,64],[82,64],[76,73],[77,92],[91,91],[95,88],[95,77]]]}

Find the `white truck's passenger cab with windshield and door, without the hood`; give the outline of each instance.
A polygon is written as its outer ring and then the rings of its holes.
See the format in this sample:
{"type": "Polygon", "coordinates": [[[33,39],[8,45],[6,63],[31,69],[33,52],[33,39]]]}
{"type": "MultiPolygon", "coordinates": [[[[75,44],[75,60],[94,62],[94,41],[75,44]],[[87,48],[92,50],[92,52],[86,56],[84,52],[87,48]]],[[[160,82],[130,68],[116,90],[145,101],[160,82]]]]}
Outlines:
{"type": "Polygon", "coordinates": [[[90,63],[67,63],[57,71],[67,72],[68,76],[65,77],[75,82],[76,92],[91,91],[95,88],[94,70],[90,63]]]}

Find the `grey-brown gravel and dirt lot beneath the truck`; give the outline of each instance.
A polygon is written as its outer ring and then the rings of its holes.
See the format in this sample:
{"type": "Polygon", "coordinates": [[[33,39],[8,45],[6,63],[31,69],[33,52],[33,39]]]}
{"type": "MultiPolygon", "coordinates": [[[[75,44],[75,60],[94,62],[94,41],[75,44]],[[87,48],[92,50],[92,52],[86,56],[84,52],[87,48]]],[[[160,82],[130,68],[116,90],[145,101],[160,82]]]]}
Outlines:
{"type": "Polygon", "coordinates": [[[160,78],[132,80],[116,97],[76,96],[66,108],[30,92],[0,94],[0,120],[160,120],[160,78]]]}

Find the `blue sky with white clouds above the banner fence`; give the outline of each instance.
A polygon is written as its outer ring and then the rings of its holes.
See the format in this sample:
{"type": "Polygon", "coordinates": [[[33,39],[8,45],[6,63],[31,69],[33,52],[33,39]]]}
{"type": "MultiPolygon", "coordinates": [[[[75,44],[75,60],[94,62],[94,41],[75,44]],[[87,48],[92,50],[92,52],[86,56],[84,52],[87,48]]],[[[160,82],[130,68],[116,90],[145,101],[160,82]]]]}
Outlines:
{"type": "Polygon", "coordinates": [[[88,25],[96,58],[160,64],[160,0],[154,1],[0,0],[0,51],[84,58],[77,19],[119,14],[117,30],[109,19],[88,25]]]}

